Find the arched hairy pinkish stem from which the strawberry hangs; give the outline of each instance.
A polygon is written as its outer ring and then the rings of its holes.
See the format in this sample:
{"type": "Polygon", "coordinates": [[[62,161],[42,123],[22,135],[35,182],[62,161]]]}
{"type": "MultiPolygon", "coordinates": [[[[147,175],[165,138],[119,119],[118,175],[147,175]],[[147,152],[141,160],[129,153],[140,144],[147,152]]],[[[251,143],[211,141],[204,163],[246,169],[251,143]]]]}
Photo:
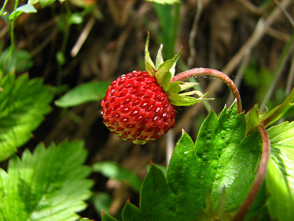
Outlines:
{"type": "Polygon", "coordinates": [[[234,84],[233,80],[228,77],[228,75],[225,75],[223,72],[220,72],[218,70],[210,69],[210,68],[193,68],[188,71],[184,71],[182,73],[179,73],[178,75],[174,76],[171,79],[171,83],[174,81],[184,81],[187,80],[190,77],[198,77],[198,76],[211,76],[211,77],[217,77],[220,80],[222,80],[232,91],[235,98],[237,98],[237,105],[238,105],[238,113],[242,112],[242,106],[241,106],[241,99],[240,94],[238,91],[238,88],[234,84]]]}

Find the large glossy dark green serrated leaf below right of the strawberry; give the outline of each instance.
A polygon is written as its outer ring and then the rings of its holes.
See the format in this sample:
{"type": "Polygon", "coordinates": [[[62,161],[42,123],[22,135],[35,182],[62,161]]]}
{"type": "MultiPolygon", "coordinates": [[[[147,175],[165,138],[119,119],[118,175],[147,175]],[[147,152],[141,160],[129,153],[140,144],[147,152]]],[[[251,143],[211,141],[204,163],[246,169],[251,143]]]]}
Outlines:
{"type": "Polygon", "coordinates": [[[140,210],[132,206],[124,209],[122,216],[144,221],[198,221],[207,196],[213,207],[223,210],[219,214],[238,207],[251,186],[260,153],[259,134],[245,136],[245,132],[245,114],[237,114],[235,102],[219,117],[211,110],[195,144],[183,131],[166,176],[151,164],[141,187],[140,210]]]}

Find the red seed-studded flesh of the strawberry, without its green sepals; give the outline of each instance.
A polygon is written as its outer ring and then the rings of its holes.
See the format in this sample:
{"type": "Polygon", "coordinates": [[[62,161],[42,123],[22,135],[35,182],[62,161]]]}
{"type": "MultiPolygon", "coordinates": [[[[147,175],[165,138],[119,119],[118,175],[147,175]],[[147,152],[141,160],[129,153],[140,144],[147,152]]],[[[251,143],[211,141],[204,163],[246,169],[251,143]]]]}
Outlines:
{"type": "Polygon", "coordinates": [[[135,144],[156,140],[175,126],[175,108],[145,71],[118,77],[108,87],[101,106],[105,125],[135,144]]]}

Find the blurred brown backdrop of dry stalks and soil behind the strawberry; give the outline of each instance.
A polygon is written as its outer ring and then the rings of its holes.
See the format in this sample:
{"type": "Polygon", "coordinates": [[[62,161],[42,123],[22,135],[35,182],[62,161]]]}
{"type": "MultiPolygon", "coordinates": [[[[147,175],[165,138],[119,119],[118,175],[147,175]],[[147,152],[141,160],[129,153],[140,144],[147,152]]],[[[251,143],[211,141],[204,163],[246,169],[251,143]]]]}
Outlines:
{"type": "MultiPolygon", "coordinates": [[[[22,3],[20,3],[22,4],[22,3]]],[[[7,11],[13,11],[9,1],[7,11]]],[[[15,22],[17,49],[31,59],[18,74],[42,77],[54,99],[87,82],[111,82],[118,76],[144,70],[144,47],[150,32],[153,60],[162,43],[164,60],[183,46],[176,74],[195,67],[209,67],[232,77],[240,90],[243,110],[255,103],[269,109],[282,103],[293,88],[294,1],[291,0],[66,0],[22,14],[15,22]],[[162,2],[171,4],[161,4],[162,2]]],[[[0,17],[2,51],[10,45],[8,18],[0,17]]],[[[114,161],[141,179],[152,159],[163,168],[184,128],[195,141],[210,107],[220,113],[233,97],[217,79],[191,79],[197,90],[210,92],[206,103],[181,107],[176,127],[158,141],[138,146],[123,141],[104,126],[99,101],[69,108],[52,103],[52,112],[34,137],[24,145],[31,150],[44,142],[83,139],[89,152],[87,164],[114,161]]],[[[293,121],[292,108],[284,120],[293,121]]],[[[19,154],[24,148],[19,149],[19,154]]],[[[107,168],[107,165],[106,165],[107,168]]],[[[126,200],[138,205],[138,189],[126,182],[93,173],[94,195],[81,215],[100,220],[101,208],[120,219],[126,200]]]]}

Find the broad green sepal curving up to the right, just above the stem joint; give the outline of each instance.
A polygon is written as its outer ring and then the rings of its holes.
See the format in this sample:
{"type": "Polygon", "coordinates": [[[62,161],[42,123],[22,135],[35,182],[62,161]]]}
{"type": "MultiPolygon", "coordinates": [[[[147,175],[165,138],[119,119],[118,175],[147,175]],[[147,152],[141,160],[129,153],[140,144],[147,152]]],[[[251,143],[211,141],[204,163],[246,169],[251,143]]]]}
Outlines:
{"type": "Polygon", "coordinates": [[[183,50],[183,48],[181,48],[179,50],[178,54],[176,54],[176,56],[173,57],[172,59],[163,62],[158,67],[158,70],[156,71],[155,77],[156,77],[157,83],[166,92],[168,91],[170,81],[171,81],[171,76],[172,76],[170,69],[173,67],[174,63],[176,62],[176,60],[180,56],[182,50],[183,50]]]}

